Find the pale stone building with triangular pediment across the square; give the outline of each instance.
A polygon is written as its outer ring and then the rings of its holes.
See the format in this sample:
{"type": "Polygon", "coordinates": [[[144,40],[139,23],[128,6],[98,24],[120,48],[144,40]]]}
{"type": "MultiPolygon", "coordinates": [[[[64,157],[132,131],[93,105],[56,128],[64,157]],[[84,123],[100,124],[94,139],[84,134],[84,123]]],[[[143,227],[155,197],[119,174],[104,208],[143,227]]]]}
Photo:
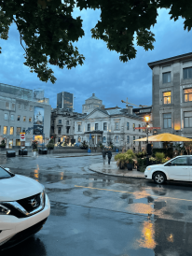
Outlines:
{"type": "Polygon", "coordinates": [[[145,142],[134,139],[145,137],[144,118],[132,113],[132,107],[95,108],[88,115],[75,118],[75,141],[103,146],[113,143],[118,149],[145,149],[145,142]],[[141,127],[136,130],[135,127],[141,127]]]}

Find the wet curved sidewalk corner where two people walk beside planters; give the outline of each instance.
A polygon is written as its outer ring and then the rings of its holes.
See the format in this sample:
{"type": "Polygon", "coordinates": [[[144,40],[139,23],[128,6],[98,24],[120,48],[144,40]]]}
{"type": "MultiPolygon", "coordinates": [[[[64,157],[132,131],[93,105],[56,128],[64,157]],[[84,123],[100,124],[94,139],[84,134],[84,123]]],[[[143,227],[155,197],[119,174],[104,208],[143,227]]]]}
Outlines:
{"type": "Polygon", "coordinates": [[[105,164],[91,164],[89,165],[89,170],[108,175],[108,176],[115,176],[115,177],[127,177],[127,178],[144,178],[144,173],[138,172],[136,169],[132,171],[128,171],[128,169],[118,169],[116,162],[111,162],[108,164],[107,161],[105,164]]]}

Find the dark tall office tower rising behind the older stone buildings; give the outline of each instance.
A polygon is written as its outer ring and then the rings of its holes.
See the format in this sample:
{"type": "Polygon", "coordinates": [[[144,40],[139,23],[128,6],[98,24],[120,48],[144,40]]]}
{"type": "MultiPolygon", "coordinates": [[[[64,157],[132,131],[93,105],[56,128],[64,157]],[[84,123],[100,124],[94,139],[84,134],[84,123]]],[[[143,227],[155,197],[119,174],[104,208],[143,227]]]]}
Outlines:
{"type": "Polygon", "coordinates": [[[74,94],[70,92],[57,93],[57,108],[68,109],[73,112],[74,94]]]}

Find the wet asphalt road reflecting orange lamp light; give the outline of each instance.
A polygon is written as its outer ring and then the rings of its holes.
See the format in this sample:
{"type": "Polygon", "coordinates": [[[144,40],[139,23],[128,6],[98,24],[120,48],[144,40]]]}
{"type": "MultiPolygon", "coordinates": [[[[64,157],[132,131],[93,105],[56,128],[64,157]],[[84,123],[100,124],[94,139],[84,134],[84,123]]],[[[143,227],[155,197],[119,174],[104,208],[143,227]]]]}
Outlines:
{"type": "Polygon", "coordinates": [[[1,255],[192,255],[192,184],[90,172],[99,162],[101,156],[0,157],[12,172],[44,184],[51,202],[44,228],[1,255]]]}

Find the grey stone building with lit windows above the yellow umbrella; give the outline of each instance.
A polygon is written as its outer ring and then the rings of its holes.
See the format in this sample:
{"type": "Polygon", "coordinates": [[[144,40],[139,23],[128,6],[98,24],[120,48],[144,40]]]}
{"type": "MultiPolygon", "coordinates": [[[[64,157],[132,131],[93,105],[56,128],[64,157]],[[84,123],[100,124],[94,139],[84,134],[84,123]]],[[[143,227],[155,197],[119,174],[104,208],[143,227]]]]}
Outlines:
{"type": "Polygon", "coordinates": [[[153,126],[192,138],[192,52],[149,63],[153,72],[153,126]]]}

